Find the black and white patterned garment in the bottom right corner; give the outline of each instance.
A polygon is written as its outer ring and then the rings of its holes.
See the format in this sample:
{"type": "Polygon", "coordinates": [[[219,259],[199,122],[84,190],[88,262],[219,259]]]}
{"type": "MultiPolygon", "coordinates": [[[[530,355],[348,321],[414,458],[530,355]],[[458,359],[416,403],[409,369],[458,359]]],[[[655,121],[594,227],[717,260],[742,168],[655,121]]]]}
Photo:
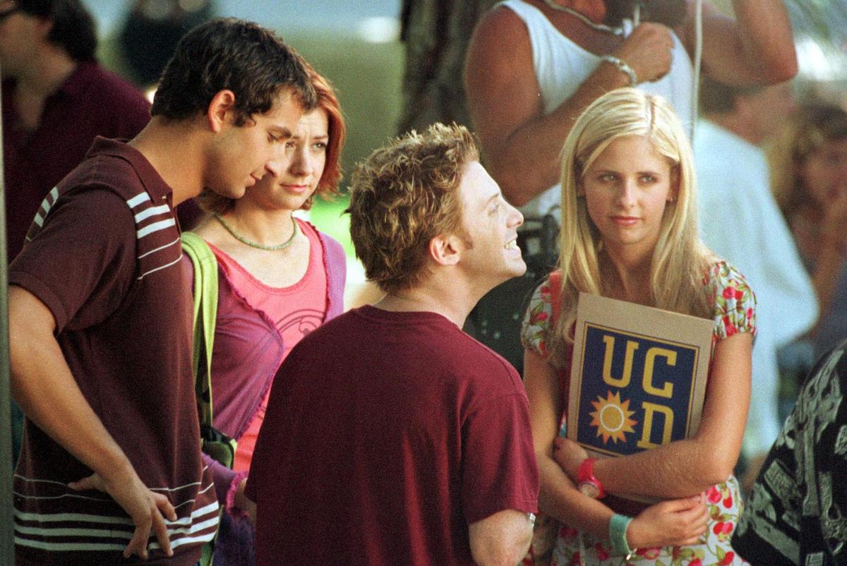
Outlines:
{"type": "Polygon", "coordinates": [[[847,342],[821,358],[733,536],[753,566],[847,565],[847,342]]]}

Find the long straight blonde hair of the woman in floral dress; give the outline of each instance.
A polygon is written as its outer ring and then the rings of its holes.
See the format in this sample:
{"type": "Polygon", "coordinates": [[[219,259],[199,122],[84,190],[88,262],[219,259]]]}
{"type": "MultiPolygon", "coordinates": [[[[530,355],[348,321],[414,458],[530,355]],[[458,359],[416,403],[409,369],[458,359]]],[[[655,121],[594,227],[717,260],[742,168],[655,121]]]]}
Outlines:
{"type": "Polygon", "coordinates": [[[612,141],[644,136],[672,164],[678,179],[673,203],[667,203],[650,262],[651,306],[710,317],[703,278],[714,258],[697,236],[697,200],[691,146],[673,108],[655,95],[622,88],[597,98],[579,116],[562,148],[561,315],[550,347],[551,361],[565,363],[573,341],[579,292],[607,295],[601,280],[602,241],[578,187],[585,172],[612,141]]]}

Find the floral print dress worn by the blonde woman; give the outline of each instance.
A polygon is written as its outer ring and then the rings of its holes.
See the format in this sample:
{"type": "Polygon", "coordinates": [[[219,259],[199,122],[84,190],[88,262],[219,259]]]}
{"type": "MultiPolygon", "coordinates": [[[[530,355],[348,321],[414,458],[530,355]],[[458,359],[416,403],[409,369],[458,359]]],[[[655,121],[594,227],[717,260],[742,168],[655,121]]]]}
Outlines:
{"type": "MultiPolygon", "coordinates": [[[[713,343],[739,332],[756,331],[756,297],[744,276],[724,261],[712,264],[703,278],[714,310],[713,343]]],[[[550,281],[535,290],[523,319],[523,347],[545,356],[553,315],[550,281]]],[[[562,416],[562,421],[564,417],[562,416]]],[[[706,492],[710,519],[706,535],[688,547],[639,548],[625,561],[606,539],[560,524],[553,549],[553,566],[729,566],[745,564],[729,544],[741,513],[741,494],[733,475],[706,492]]]]}

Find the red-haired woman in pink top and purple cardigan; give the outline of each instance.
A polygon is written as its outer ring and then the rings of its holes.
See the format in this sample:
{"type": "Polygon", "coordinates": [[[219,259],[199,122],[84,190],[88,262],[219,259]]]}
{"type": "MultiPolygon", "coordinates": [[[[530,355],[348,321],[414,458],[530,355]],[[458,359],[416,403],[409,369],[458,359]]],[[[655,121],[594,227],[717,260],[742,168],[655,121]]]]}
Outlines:
{"type": "Polygon", "coordinates": [[[212,467],[221,519],[214,563],[252,564],[255,505],[247,470],[268,391],[291,348],[343,310],[345,255],[302,219],[315,194],[337,191],[345,125],[329,83],[313,72],[318,108],[303,114],[278,175],[265,175],[234,200],[205,192],[210,215],[195,232],[218,259],[219,301],[212,355],[214,427],[238,441],[234,469],[212,467]],[[248,519],[249,518],[249,519],[248,519]]]}

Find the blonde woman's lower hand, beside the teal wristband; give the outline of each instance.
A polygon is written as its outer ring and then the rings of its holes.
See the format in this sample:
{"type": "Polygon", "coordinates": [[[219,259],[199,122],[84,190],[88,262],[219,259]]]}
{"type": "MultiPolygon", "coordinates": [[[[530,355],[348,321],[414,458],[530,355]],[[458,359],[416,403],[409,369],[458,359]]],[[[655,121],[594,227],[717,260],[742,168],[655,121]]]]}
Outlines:
{"type": "Polygon", "coordinates": [[[702,495],[669,499],[639,513],[627,528],[630,548],[681,547],[706,532],[709,513],[702,495]]]}

